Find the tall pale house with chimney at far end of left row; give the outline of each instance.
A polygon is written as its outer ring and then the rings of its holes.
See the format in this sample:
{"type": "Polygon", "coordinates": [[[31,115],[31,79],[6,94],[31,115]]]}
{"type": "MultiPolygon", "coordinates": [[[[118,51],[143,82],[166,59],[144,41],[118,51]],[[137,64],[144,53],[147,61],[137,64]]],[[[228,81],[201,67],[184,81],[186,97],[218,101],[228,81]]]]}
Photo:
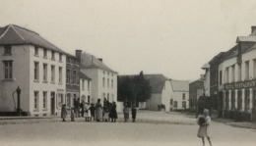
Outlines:
{"type": "Polygon", "coordinates": [[[117,72],[103,64],[102,59],[76,50],[76,57],[80,60],[80,72],[92,78],[92,102],[101,102],[106,98],[109,102],[117,101],[117,72]]]}

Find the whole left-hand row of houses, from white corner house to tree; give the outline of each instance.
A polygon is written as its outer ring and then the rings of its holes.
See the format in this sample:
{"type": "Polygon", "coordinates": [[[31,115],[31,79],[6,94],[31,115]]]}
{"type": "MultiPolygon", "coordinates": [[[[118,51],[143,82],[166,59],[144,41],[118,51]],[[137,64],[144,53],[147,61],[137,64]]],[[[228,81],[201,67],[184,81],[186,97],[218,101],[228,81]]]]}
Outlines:
{"type": "Polygon", "coordinates": [[[0,27],[0,114],[21,109],[29,116],[59,115],[75,101],[117,100],[117,72],[102,59],[76,50],[71,55],[38,33],[15,24],[0,27]]]}

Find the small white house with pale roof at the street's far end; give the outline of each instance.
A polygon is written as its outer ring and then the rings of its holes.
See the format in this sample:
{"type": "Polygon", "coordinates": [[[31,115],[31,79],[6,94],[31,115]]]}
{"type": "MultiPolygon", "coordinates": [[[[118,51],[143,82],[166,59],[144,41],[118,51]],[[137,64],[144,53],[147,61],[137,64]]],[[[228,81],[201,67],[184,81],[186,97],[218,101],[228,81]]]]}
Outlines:
{"type": "Polygon", "coordinates": [[[189,81],[170,80],[170,111],[189,109],[189,81]]]}

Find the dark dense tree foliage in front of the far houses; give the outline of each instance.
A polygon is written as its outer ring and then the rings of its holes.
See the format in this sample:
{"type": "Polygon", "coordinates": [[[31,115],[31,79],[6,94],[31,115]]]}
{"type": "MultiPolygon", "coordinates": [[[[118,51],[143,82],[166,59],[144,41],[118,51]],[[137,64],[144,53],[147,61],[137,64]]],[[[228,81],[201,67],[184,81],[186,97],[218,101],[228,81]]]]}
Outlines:
{"type": "Polygon", "coordinates": [[[141,72],[138,75],[118,76],[117,79],[118,101],[138,105],[138,102],[145,102],[151,97],[151,85],[141,72]]]}

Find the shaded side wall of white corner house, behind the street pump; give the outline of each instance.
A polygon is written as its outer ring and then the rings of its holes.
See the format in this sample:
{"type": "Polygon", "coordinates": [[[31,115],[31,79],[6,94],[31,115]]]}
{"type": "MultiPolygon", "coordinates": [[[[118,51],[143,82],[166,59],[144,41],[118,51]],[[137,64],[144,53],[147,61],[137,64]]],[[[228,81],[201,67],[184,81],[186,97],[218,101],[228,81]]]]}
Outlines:
{"type": "MultiPolygon", "coordinates": [[[[0,112],[14,112],[15,104],[12,94],[20,86],[21,109],[30,111],[30,46],[12,46],[12,55],[4,55],[0,46],[0,112]],[[13,79],[4,79],[3,61],[13,61],[13,79]]],[[[14,94],[17,107],[17,94],[14,94]]]]}

